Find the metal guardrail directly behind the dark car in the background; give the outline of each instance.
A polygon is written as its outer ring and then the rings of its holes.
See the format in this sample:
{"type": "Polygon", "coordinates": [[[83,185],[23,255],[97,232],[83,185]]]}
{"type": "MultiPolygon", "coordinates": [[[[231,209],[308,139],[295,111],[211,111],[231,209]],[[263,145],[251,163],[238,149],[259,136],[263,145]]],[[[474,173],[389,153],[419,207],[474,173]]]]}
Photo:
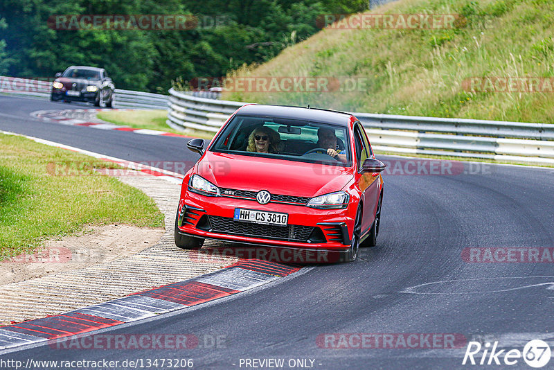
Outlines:
{"type": "MultiPolygon", "coordinates": [[[[48,99],[52,91],[52,82],[0,76],[0,94],[48,99]]],[[[167,95],[122,89],[116,89],[114,92],[114,108],[168,108],[167,95]]]]}

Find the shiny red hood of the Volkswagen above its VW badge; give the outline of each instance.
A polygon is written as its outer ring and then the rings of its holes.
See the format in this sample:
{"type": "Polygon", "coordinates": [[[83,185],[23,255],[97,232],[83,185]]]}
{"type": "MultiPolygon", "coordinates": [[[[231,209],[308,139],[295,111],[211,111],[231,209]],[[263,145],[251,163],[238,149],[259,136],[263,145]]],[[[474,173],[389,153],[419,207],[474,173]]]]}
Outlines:
{"type": "Polygon", "coordinates": [[[314,197],[341,190],[352,168],[206,152],[196,172],[220,188],[314,197]]]}

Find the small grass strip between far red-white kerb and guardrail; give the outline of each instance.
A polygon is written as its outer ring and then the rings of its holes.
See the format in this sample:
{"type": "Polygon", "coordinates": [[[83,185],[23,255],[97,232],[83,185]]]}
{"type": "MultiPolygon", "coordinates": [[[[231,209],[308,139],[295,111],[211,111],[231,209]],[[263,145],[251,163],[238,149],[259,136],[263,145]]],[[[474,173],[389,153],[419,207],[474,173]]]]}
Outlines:
{"type": "Polygon", "coordinates": [[[98,118],[103,121],[114,123],[115,125],[123,125],[135,128],[145,128],[148,130],[159,130],[172,132],[174,134],[183,134],[194,137],[202,137],[204,139],[212,139],[213,134],[199,132],[195,130],[175,130],[169,127],[166,123],[168,118],[167,109],[148,109],[148,110],[122,110],[111,112],[100,112],[98,118]]]}

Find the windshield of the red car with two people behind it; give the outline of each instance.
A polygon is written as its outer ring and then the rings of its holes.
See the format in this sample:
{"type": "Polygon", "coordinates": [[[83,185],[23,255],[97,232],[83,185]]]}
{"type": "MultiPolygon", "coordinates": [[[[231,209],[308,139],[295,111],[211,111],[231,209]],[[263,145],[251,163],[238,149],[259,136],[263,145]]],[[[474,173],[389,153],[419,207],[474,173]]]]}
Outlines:
{"type": "Polygon", "coordinates": [[[348,129],[344,126],[289,118],[237,115],[220,132],[210,150],[351,166],[349,142],[348,129]],[[326,140],[320,140],[319,136],[325,136],[326,140]],[[263,145],[264,139],[269,141],[267,153],[258,150],[258,145],[263,145]],[[329,149],[334,150],[331,152],[333,156],[328,154],[329,149]]]}

